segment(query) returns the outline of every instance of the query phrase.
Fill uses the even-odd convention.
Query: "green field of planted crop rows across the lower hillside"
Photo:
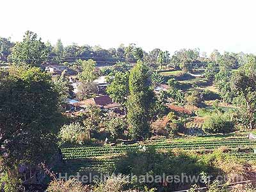
[[[228,154],[232,154],[241,159],[255,160],[256,154],[253,148],[256,147],[256,141],[249,140],[245,136],[232,138],[219,138],[212,140],[195,141],[170,141],[159,140],[150,141],[140,145],[117,145],[107,147],[67,147],[62,148],[63,160],[66,161],[66,172],[107,172],[115,169],[115,164],[126,152],[132,150],[145,150],[145,148],[154,148],[156,150],[172,150],[179,148],[182,150],[202,150],[211,151],[221,146],[229,148]],[[237,148],[249,148],[248,152],[236,152]]]

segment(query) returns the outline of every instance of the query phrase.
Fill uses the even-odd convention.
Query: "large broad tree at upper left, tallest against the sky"
[[[27,31],[23,41],[18,42],[12,48],[9,60],[15,65],[29,64],[31,66],[42,65],[47,61],[49,50],[36,33]]]

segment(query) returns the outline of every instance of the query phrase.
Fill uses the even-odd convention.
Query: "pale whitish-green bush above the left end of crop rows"
[[[63,125],[60,129],[59,138],[61,143],[83,144],[88,140],[88,134],[85,127],[79,123],[72,123],[69,125]]]

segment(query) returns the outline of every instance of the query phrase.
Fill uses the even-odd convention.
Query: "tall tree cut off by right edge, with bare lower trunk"
[[[250,61],[232,75],[231,88],[239,97],[241,107],[246,108],[250,129],[255,127],[256,121],[256,58]]]

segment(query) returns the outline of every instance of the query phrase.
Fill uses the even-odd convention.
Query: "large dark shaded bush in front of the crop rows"
[[[130,151],[126,156],[120,158],[115,165],[115,173],[136,175],[139,179],[143,178],[141,175],[152,175],[155,179],[153,182],[148,179],[142,183],[135,180],[134,183],[138,187],[147,185],[149,188],[157,188],[157,191],[170,191],[189,189],[195,183],[204,186],[201,182],[193,181],[193,176],[200,178],[199,175],[202,172],[212,175],[213,178],[216,175],[222,175],[220,169],[214,168],[210,164],[209,162],[205,163],[202,157],[200,159],[195,154],[190,155],[182,151],[160,153],[153,148],[147,148],[146,151]],[[161,179],[157,175],[160,175]],[[168,175],[171,175],[169,181],[166,180]],[[152,176],[150,177],[152,178]]]

